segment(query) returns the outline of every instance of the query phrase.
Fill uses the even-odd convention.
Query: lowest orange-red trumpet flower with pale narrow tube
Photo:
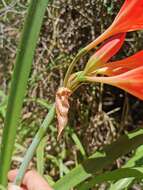
[[[113,77],[93,76],[86,80],[116,86],[143,100],[143,66]]]

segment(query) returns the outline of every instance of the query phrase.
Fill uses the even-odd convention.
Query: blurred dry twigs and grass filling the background
[[[17,131],[13,168],[22,161],[73,56],[112,23],[122,3],[123,0],[52,0],[47,7]],[[26,0],[0,2],[0,133],[27,7]],[[124,47],[113,59],[141,50],[142,39],[142,32],[129,33]],[[80,68],[85,60],[81,60]],[[63,138],[57,142],[55,124],[51,125],[31,162],[30,167],[37,167],[50,183],[95,150],[102,150],[104,145],[143,124],[143,103],[111,86],[82,86],[70,103],[70,121]],[[130,155],[119,158],[107,170],[120,168]],[[95,189],[107,187],[108,184],[102,183]],[[141,182],[135,182],[131,187],[142,188]]]

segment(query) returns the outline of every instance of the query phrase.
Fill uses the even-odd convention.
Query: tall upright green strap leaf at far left
[[[7,184],[7,172],[10,168],[16,128],[47,4],[48,0],[31,0],[17,50],[0,153],[0,184],[4,186]]]

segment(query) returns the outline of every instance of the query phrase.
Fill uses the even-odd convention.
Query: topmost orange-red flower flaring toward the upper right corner
[[[143,0],[125,0],[112,25],[84,49],[90,51],[117,33],[143,29]]]

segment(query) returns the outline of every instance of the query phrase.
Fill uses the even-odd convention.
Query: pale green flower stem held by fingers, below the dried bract
[[[16,179],[15,179],[15,182],[14,182],[15,185],[21,185],[22,179],[23,179],[24,174],[28,168],[28,165],[29,165],[29,163],[30,163],[41,139],[45,135],[47,128],[49,127],[49,125],[53,121],[54,116],[55,116],[55,104],[50,109],[48,115],[46,116],[45,120],[43,121],[41,127],[39,128],[37,134],[35,135],[30,147],[28,148],[28,150],[25,154],[25,157],[24,157],[23,162],[19,168],[19,172],[18,172]]]

